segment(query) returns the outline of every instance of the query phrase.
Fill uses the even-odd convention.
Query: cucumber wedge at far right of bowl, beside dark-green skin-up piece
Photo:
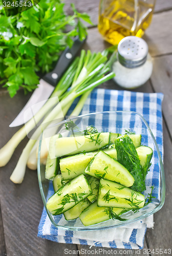
[[[140,164],[144,170],[144,177],[146,177],[147,171],[151,165],[150,161],[153,157],[153,150],[148,146],[139,146],[136,148],[136,151],[140,159]]]

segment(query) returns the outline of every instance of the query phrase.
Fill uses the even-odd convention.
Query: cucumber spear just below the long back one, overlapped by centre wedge
[[[104,152],[110,155],[113,158],[117,158],[117,153],[115,148],[106,149]],[[89,152],[89,153],[81,153],[75,156],[65,157],[60,159],[60,170],[62,174],[62,178],[64,180],[73,179],[80,174],[84,173],[85,168],[93,159],[93,157],[98,153]]]

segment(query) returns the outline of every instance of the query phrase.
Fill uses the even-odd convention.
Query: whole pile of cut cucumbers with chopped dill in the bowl
[[[151,201],[141,194],[151,165],[152,148],[141,145],[141,135],[101,132],[89,126],[84,135],[50,139],[46,179],[54,195],[47,201],[52,215],[79,218],[93,225],[138,211]],[[153,188],[152,188],[153,189]]]

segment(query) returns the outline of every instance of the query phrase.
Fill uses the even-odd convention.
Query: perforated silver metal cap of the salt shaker
[[[146,62],[147,54],[148,46],[142,38],[126,36],[119,42],[117,59],[126,68],[142,66]]]

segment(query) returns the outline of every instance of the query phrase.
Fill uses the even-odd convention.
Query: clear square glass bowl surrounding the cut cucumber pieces
[[[151,191],[150,186],[154,185],[152,202],[138,212],[128,211],[121,215],[126,221],[108,220],[91,226],[84,226],[78,219],[67,221],[63,215],[53,216],[47,210],[47,200],[54,194],[52,181],[45,178],[45,165],[40,164],[40,148],[42,138],[50,137],[55,133],[60,133],[62,137],[69,137],[73,134],[75,136],[83,134],[83,131],[87,126],[93,125],[97,128],[98,132],[113,132],[124,134],[125,130],[130,130],[136,134],[141,134],[143,145],[149,146],[153,149],[152,165],[146,176],[146,190],[144,191],[145,198]],[[47,214],[50,221],[55,227],[63,228],[66,230],[100,230],[112,227],[119,227],[129,223],[139,221],[149,215],[154,214],[160,210],[165,200],[165,177],[161,154],[154,138],[152,131],[150,130],[147,122],[144,118],[136,112],[127,111],[110,111],[91,113],[87,115],[81,115],[78,117],[70,117],[67,120],[55,120],[47,129],[42,132],[42,136],[39,142],[38,150],[38,182],[40,188],[40,194],[42,201],[47,210]]]

